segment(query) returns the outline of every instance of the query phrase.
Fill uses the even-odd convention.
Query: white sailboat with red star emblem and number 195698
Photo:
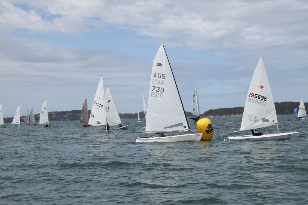
[[[257,128],[276,125],[277,133],[261,134],[255,133]],[[267,78],[262,57],[260,57],[249,86],[241,129],[239,131],[250,130],[254,134],[229,136],[224,141],[241,140],[263,140],[263,139],[290,139],[299,132],[279,133],[278,120],[272,90]],[[238,132],[238,131],[234,131]],[[257,135],[257,136],[255,136]]]

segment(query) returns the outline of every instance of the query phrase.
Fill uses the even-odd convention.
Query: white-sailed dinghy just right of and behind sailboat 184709
[[[109,126],[119,125],[119,128],[117,128],[117,130],[126,130],[128,125],[126,126],[123,125],[119,112],[115,107],[115,101],[113,100],[109,87],[107,87],[105,91],[105,103],[106,103],[106,117]]]

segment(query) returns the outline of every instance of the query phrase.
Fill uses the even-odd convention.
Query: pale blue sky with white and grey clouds
[[[103,75],[120,113],[142,111],[161,44],[186,111],[194,88],[202,113],[243,107],[260,56],[275,102],[307,102],[307,22],[305,0],[0,0],[0,104],[80,110]]]

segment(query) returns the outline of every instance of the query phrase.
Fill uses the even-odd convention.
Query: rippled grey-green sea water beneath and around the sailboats
[[[0,204],[308,204],[308,120],[294,118],[278,115],[294,139],[245,142],[223,141],[241,116],[209,117],[212,140],[180,143],[136,143],[149,135],[137,119],[110,134],[78,121],[6,123]]]

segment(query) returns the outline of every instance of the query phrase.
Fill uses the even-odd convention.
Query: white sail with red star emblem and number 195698
[[[262,57],[260,57],[248,90],[241,130],[277,124],[277,115]]]

